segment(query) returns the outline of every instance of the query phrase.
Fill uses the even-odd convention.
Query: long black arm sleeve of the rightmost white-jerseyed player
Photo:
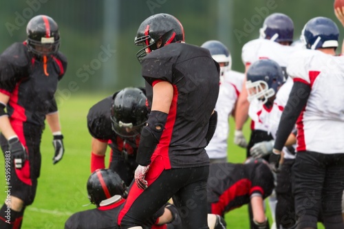
[[[282,150],[288,136],[292,133],[292,129],[294,124],[297,122],[297,118],[299,118],[301,111],[304,109],[308,101],[310,90],[310,85],[301,82],[294,82],[287,105],[284,107],[281,120],[279,121],[274,149],[279,151]]]

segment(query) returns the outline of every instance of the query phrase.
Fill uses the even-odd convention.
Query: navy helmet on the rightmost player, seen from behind
[[[321,47],[338,47],[339,30],[331,19],[314,17],[302,30],[301,40],[309,50]]]

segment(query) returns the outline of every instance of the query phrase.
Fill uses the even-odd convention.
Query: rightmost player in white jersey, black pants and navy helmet
[[[319,210],[325,228],[343,228],[344,57],[335,56],[338,36],[331,19],[311,19],[302,31],[308,50],[291,56],[287,67],[294,85],[279,122],[273,155],[278,164],[296,122],[292,177],[298,229],[316,228]]]

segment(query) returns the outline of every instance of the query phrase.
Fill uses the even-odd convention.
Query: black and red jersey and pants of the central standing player
[[[173,85],[173,100],[145,177],[148,188],[131,186],[118,223],[122,228],[140,225],[173,196],[175,206],[188,211],[180,214],[186,223],[183,228],[207,228],[204,197],[209,158],[204,148],[219,92],[219,66],[208,50],[171,43],[143,58],[142,76],[149,105],[152,87],[160,81]],[[188,201],[195,201],[197,208]]]

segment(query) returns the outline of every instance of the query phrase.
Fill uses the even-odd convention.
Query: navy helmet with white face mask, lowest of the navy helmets
[[[270,59],[255,61],[247,70],[248,101],[257,98],[264,103],[267,102],[268,98],[277,93],[283,81],[283,71],[278,63]]]

